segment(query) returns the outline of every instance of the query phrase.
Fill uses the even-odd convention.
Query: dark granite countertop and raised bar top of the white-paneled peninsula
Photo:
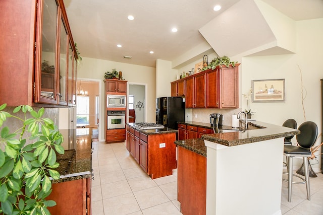
[[[179,122],[181,124],[195,125],[199,127],[212,128],[208,123],[202,122]],[[274,125],[265,122],[249,122],[250,130],[232,131],[225,133],[204,134],[200,139],[186,139],[175,141],[175,144],[206,157],[204,139],[228,147],[250,144],[252,142],[264,141],[299,134],[300,131],[288,127]],[[259,128],[260,127],[260,128]],[[223,126],[222,129],[232,129],[231,126]],[[204,149],[205,147],[205,149]]]

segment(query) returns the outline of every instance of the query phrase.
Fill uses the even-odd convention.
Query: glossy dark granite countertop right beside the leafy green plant
[[[64,132],[62,130],[62,132]],[[64,155],[57,154],[60,164],[57,170],[61,177],[52,183],[90,178],[92,172],[92,128],[77,128],[73,146],[68,146]],[[66,148],[66,147],[65,147]]]

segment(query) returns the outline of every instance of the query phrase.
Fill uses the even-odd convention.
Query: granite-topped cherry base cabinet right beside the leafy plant
[[[64,133],[65,130],[60,130]],[[92,128],[75,130],[75,141],[57,154],[61,177],[52,180],[52,192],[47,199],[57,205],[47,207],[51,214],[91,214]]]

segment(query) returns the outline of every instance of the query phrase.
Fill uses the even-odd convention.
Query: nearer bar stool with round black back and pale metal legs
[[[284,155],[287,157],[288,166],[287,174],[288,180],[283,179],[288,182],[288,201],[291,202],[292,199],[292,184],[306,183],[307,199],[310,200],[310,190],[309,190],[309,173],[308,173],[308,161],[307,158],[312,155],[311,147],[315,144],[317,137],[317,125],[314,122],[307,121],[303,122],[299,127],[300,134],[296,135],[296,140],[299,146],[289,146],[284,145]],[[305,168],[305,179],[293,174],[293,158],[303,157],[304,168]],[[302,182],[293,182],[293,175],[301,178]]]

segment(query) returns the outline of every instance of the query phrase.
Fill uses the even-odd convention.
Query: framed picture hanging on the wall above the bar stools
[[[252,102],[285,102],[285,79],[252,80]]]

